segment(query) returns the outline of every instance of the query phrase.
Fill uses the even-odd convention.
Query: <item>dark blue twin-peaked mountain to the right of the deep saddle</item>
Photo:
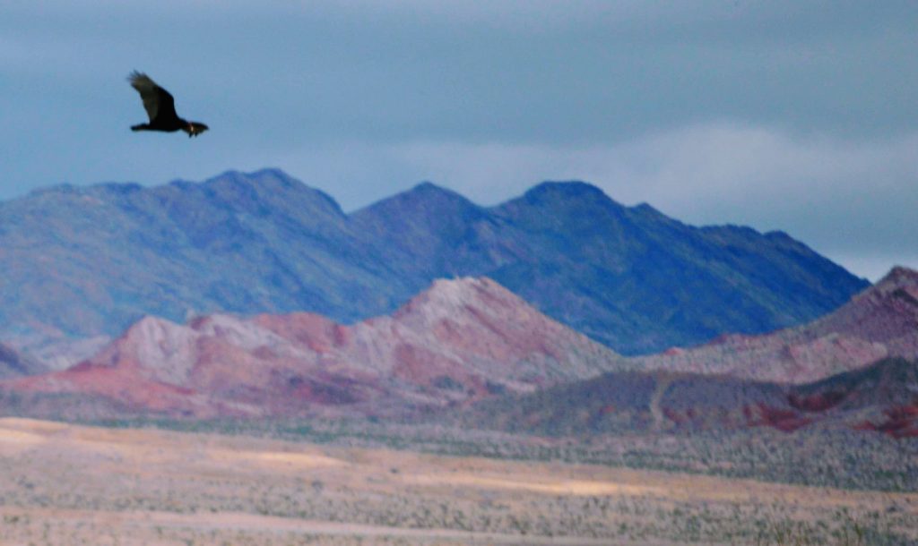
[[[422,184],[352,219],[405,278],[486,275],[625,355],[807,322],[868,285],[786,234],[689,226],[583,182],[487,209]]]

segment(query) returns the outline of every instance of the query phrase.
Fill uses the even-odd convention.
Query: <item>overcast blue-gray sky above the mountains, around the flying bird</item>
[[[587,180],[918,268],[918,3],[6,0],[0,199],[285,169],[353,210]],[[129,71],[211,131],[132,134]]]

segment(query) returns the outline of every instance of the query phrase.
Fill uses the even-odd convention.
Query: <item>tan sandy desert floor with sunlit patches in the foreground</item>
[[[3,545],[843,544],[863,529],[918,541],[918,494],[0,420]]]

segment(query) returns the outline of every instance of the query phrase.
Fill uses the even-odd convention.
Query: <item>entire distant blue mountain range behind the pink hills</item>
[[[454,276],[494,278],[624,354],[810,321],[867,286],[788,235],[681,224],[581,182],[495,207],[421,184],[345,214],[274,169],[0,203],[0,268],[0,340],[54,366],[145,315],[355,322]]]

